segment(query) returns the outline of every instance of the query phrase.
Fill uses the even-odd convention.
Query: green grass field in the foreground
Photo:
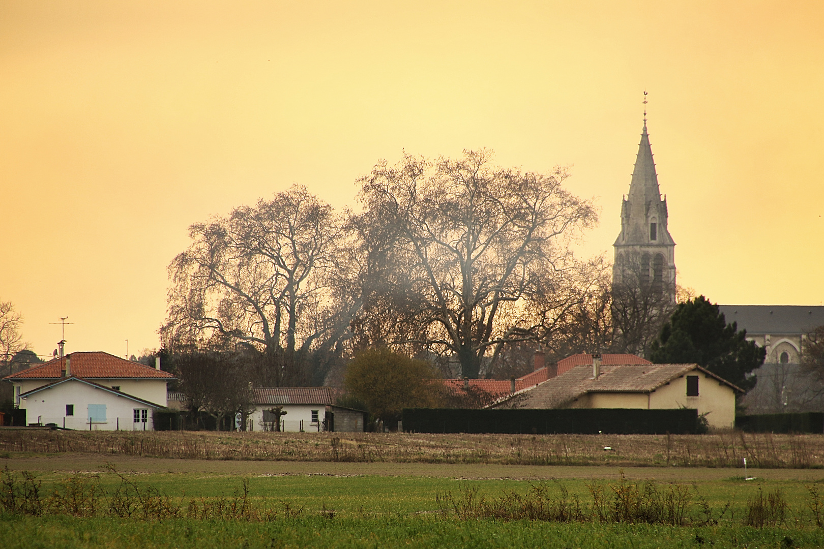
[[[35,472],[44,497],[68,477],[95,483],[111,498],[121,479],[99,466],[100,455],[12,456],[0,460],[13,471]],[[461,518],[438,503],[438,496],[477,491],[487,500],[506,493],[527,495],[543,482],[550,499],[577,496],[591,505],[592,486],[606,494],[620,488],[617,469],[531,468],[525,466],[443,466],[417,464],[207,462],[134,459],[116,468],[138,489],[169,496],[185,509],[188,500],[217,500],[241,493],[255,508],[276,509],[269,520],[119,518],[97,511],[91,517],[44,512],[40,516],[0,514],[2,547],[824,547],[810,509],[809,486],[821,486],[824,472],[780,469],[741,471],[713,468],[627,468],[625,486],[655,480],[663,494],[669,482],[690,493],[683,526],[660,523],[555,522],[528,519]],[[293,470],[290,470],[292,468]],[[763,475],[763,476],[762,476]],[[17,474],[19,478],[19,474]],[[776,527],[747,526],[749,504],[758,495],[780,490],[786,505]],[[714,520],[701,519],[699,496]],[[284,516],[283,505],[293,509]],[[101,508],[105,505],[101,505]],[[295,512],[295,509],[301,509]],[[723,511],[723,513],[722,513]],[[135,514],[137,516],[137,514]]]

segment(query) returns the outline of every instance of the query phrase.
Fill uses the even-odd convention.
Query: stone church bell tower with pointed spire
[[[675,241],[667,230],[667,198],[661,198],[646,112],[632,172],[630,193],[621,204],[620,235],[612,244],[612,283],[652,285],[675,300]]]

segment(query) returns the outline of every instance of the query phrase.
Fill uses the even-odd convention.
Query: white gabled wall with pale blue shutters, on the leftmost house
[[[74,405],[74,416],[66,416],[66,405]],[[134,423],[135,408],[147,410],[146,430],[152,430],[154,408],[130,398],[109,393],[80,381],[69,380],[38,393],[21,398],[20,407],[26,408],[26,422],[45,425],[55,423],[67,429],[89,430],[88,405],[105,404],[105,421],[95,421],[91,430],[143,430],[143,422]]]

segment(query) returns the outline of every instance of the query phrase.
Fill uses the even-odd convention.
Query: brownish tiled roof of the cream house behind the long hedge
[[[598,379],[592,379],[592,365],[586,365],[574,366],[564,375],[515,393],[493,407],[557,408],[586,393],[650,393],[692,370],[700,370],[743,393],[741,388],[695,364],[602,365]]]

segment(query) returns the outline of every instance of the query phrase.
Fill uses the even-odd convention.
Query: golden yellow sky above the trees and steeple
[[[0,3],[0,299],[34,350],[157,347],[194,221],[401,151],[572,165],[619,232],[648,128],[681,284],[824,300],[822,2]]]

